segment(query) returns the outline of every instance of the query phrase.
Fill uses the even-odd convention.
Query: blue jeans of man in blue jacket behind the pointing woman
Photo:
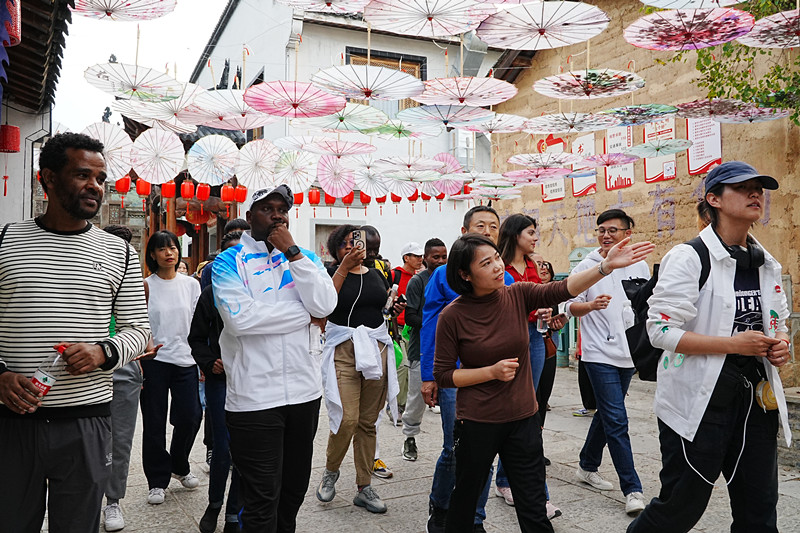
[[[431,486],[430,503],[437,509],[450,508],[450,495],[456,486],[456,456],[453,451],[453,429],[456,423],[456,389],[439,389],[439,409],[442,415],[442,453],[436,461],[436,470],[433,472],[433,485]],[[478,507],[475,510],[475,523],[482,524],[486,519],[486,500],[489,499],[489,487],[492,484],[492,467],[489,467],[489,476],[486,486],[483,487]]]

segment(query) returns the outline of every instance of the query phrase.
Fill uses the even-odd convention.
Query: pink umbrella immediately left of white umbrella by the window
[[[271,81],[253,85],[244,92],[244,102],[268,115],[289,118],[330,115],[341,111],[347,104],[341,96],[297,81]]]

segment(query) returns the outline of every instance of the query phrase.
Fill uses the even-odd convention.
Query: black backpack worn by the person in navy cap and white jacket
[[[700,280],[698,288],[702,289],[708,280],[711,272],[711,259],[708,254],[708,247],[700,237],[695,237],[686,242],[694,248],[700,256]],[[628,340],[628,348],[631,352],[633,364],[639,371],[639,379],[642,381],[655,381],[658,374],[658,362],[664,350],[655,348],[650,344],[650,336],[647,334],[647,313],[650,306],[647,300],[653,295],[653,288],[658,282],[658,267],[653,266],[653,276],[650,279],[634,278],[622,280],[622,288],[625,295],[631,301],[631,308],[634,314],[634,324],[625,330],[625,337]]]

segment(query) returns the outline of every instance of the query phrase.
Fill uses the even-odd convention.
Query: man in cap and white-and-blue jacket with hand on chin
[[[213,263],[214,301],[225,324],[225,415],[246,532],[295,530],[322,396],[309,325],[337,301],[322,262],[289,233],[293,203],[286,185],[256,191],[250,233]]]

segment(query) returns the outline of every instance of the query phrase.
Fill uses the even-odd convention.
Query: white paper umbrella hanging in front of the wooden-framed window
[[[320,70],[311,83],[345,98],[402,100],[416,96],[424,86],[402,70],[372,65],[341,65]]]

